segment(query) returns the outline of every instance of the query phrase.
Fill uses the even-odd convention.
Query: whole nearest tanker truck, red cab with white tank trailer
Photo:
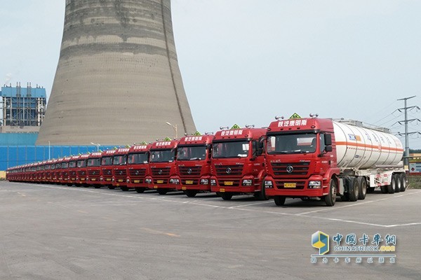
[[[278,206],[286,197],[333,206],[337,195],[354,202],[375,188],[405,191],[402,155],[401,141],[382,127],[314,116],[278,118],[267,130],[266,194]]]

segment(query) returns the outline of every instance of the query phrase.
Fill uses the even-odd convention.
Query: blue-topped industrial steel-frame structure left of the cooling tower
[[[46,90],[44,87],[16,87],[4,85],[1,87],[2,97],[2,127],[39,127],[44,120],[46,109]]]

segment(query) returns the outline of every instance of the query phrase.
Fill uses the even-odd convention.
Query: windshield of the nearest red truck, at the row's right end
[[[316,134],[278,134],[267,137],[267,153],[314,153],[316,151]]]

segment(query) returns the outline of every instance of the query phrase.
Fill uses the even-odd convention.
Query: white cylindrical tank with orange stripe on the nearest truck
[[[372,169],[398,165],[402,160],[401,141],[388,130],[363,127],[358,121],[333,121],[338,167]]]

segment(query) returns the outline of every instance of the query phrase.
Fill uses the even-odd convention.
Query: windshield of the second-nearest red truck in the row
[[[246,158],[249,141],[227,141],[212,144],[212,158]]]

